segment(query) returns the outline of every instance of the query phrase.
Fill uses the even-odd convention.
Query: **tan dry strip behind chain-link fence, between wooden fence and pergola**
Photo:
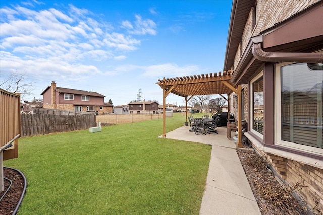
[[[162,118],[163,114],[107,114],[97,115],[96,123],[102,122],[102,125],[116,125]]]

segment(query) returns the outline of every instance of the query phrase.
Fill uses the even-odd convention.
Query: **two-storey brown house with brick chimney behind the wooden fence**
[[[97,114],[112,113],[113,105],[104,103],[103,95],[69,88],[56,87],[52,82],[42,93],[43,108],[71,111],[93,112]]]

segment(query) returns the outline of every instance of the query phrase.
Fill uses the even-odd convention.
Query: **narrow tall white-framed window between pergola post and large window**
[[[251,81],[251,132],[263,137],[263,71]]]

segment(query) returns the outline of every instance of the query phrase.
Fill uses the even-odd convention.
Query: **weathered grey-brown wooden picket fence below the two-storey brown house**
[[[95,126],[95,115],[22,114],[21,136],[83,130]]]

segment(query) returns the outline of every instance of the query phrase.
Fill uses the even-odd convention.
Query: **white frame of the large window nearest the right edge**
[[[290,62],[277,63],[275,65],[275,145],[284,146],[291,149],[298,149],[316,155],[323,155],[323,149],[317,147],[296,144],[281,139],[282,136],[282,105],[281,105],[281,67],[293,64]]]

